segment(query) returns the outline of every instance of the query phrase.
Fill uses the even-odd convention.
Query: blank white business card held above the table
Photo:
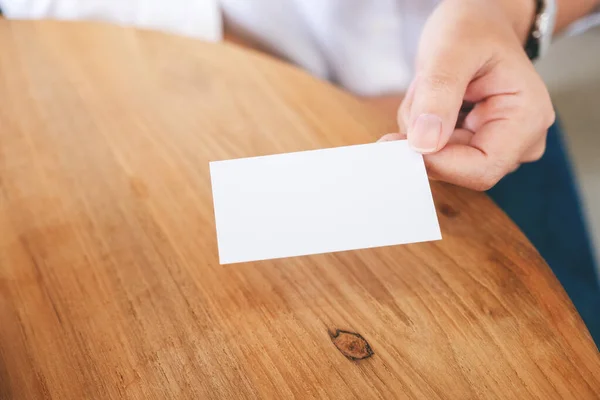
[[[406,141],[210,163],[221,264],[441,239]]]

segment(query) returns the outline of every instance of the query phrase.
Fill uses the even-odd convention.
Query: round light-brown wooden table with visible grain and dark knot
[[[484,195],[436,243],[221,266],[210,160],[393,126],[282,62],[0,21],[0,398],[598,399],[567,295]]]

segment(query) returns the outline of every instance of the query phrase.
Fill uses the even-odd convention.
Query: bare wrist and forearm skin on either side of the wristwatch
[[[529,35],[535,15],[535,0],[496,0],[513,22],[513,27],[519,38],[525,41]],[[556,18],[555,33],[578,19],[585,17],[595,7],[600,5],[600,0],[557,0],[558,15]]]

